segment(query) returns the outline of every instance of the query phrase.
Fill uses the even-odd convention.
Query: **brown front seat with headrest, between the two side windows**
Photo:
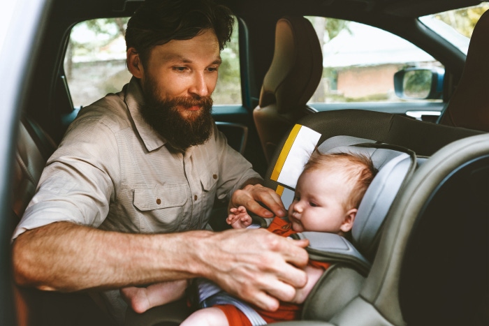
[[[322,71],[321,45],[311,22],[304,17],[278,20],[272,64],[253,112],[267,161],[295,121],[313,112],[306,103],[316,91]]]

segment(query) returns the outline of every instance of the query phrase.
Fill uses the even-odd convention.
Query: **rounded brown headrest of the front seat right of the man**
[[[275,29],[275,52],[261,88],[261,108],[276,103],[279,113],[309,101],[321,80],[323,54],[311,22],[283,17]]]

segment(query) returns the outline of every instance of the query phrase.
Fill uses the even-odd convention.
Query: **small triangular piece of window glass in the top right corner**
[[[439,36],[458,47],[460,51],[467,54],[472,31],[474,31],[479,17],[488,9],[489,3],[483,2],[479,6],[423,16],[419,20],[439,34]]]

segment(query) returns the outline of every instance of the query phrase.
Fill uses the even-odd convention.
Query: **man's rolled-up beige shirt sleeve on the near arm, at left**
[[[17,225],[13,239],[27,230],[58,221],[98,227],[108,214],[117,181],[117,142],[101,121],[66,133],[48,160],[36,195]]]

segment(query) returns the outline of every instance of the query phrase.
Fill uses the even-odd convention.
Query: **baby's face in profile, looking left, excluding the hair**
[[[350,187],[341,174],[323,170],[302,173],[289,207],[289,221],[293,230],[337,234],[348,232],[355,216],[353,214],[351,218],[351,210],[347,211],[343,205],[349,191]]]

